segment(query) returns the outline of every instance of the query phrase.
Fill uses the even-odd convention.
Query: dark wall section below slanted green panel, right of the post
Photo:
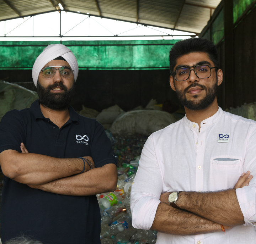
[[[233,107],[256,101],[256,8],[234,29],[234,98]]]

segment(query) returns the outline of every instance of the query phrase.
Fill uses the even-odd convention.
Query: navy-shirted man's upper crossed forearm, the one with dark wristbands
[[[58,159],[41,154],[5,150],[0,154],[0,165],[5,176],[23,184],[39,185],[80,173],[82,159]],[[85,171],[90,170],[85,165]]]

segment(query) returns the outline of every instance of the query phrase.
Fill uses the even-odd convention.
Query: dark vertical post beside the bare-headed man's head
[[[223,108],[234,106],[233,0],[224,0],[224,84]]]

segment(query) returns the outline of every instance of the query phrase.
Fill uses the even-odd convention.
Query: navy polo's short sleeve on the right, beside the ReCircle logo
[[[110,139],[103,126],[95,120],[95,131],[91,142],[91,157],[94,160],[95,168],[102,167],[108,163],[117,165],[117,155],[114,153]]]

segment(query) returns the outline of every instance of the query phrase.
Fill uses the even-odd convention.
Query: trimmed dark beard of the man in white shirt
[[[206,96],[202,98],[201,100],[192,101],[187,100],[186,93],[187,91],[192,87],[200,87],[203,90],[206,91]],[[218,81],[214,83],[212,87],[207,88],[204,85],[201,85],[199,83],[192,83],[189,85],[183,92],[181,90],[176,89],[176,94],[178,96],[178,99],[180,100],[181,104],[184,107],[187,107],[190,110],[202,110],[206,109],[210,104],[212,104],[218,90]],[[194,95],[193,98],[197,98],[198,95]]]

